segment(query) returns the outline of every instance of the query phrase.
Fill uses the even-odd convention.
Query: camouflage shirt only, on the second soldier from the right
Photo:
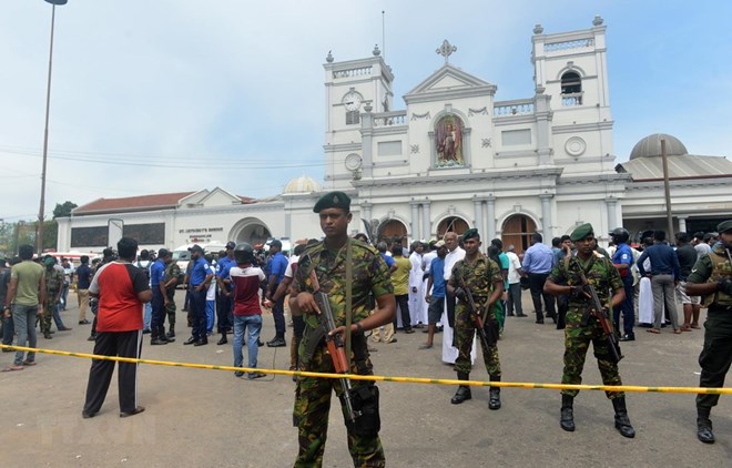
[[[555,284],[566,284],[568,286],[581,286],[582,278],[580,269],[584,272],[588,283],[590,283],[598,293],[600,303],[608,305],[610,303],[610,291],[623,288],[622,279],[618,268],[602,254],[594,253],[593,257],[583,263],[577,255],[569,257],[569,261],[562,260],[552,268],[549,279]],[[583,299],[587,303],[589,299]],[[578,305],[575,298],[570,298],[570,305]]]

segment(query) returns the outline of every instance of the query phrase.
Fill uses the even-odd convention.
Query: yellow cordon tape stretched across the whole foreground
[[[87,359],[115,360],[119,363],[150,364],[153,366],[185,367],[192,369],[210,369],[243,373],[265,373],[273,375],[318,377],[318,378],[349,378],[352,380],[396,381],[399,384],[428,384],[428,385],[466,385],[470,387],[504,387],[504,388],[542,388],[548,390],[601,390],[601,391],[634,391],[634,393],[659,393],[659,394],[708,394],[708,395],[732,395],[732,388],[728,387],[644,387],[638,385],[571,385],[571,384],[539,384],[528,381],[484,381],[484,380],[456,380],[451,378],[424,378],[424,377],[392,377],[383,375],[356,375],[356,374],[329,374],[311,373],[306,370],[262,369],[251,367],[216,366],[212,364],[177,363],[173,360],[138,359],[133,357],[100,356],[89,353],[71,353],[58,349],[29,348],[26,346],[0,345],[0,348],[51,354],[57,356],[81,357]]]

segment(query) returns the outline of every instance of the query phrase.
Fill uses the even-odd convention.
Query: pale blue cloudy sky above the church
[[[51,4],[0,1],[0,218],[38,217]],[[384,14],[382,12],[385,12]],[[324,176],[325,72],[375,44],[401,96],[450,63],[533,95],[533,26],[604,19],[617,162],[652,133],[732,149],[732,2],[69,0],[55,9],[45,216],[57,203],[220,186],[264,197]],[[383,27],[384,26],[384,27]]]

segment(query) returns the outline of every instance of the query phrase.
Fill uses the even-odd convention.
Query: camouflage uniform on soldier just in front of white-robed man
[[[458,261],[453,267],[450,284],[459,287],[465,281],[468,289],[472,293],[472,301],[481,312],[485,311],[490,294],[494,291],[494,283],[504,282],[500,267],[490,258],[479,256],[475,263],[468,264],[465,260]],[[491,307],[486,316],[486,328],[492,328],[498,333],[498,321],[496,319],[496,308]],[[455,342],[458,348],[458,357],[455,359],[455,370],[469,374],[470,349],[476,335],[476,325],[471,318],[470,306],[464,301],[458,301],[455,307]],[[490,336],[490,334],[488,333]],[[492,343],[490,343],[492,342]],[[486,370],[491,380],[500,379],[500,362],[498,360],[498,346],[495,339],[489,339],[489,347],[480,340],[482,347],[482,358],[486,363]]]

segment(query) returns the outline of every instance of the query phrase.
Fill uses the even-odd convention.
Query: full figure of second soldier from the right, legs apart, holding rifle
[[[620,307],[626,298],[620,273],[612,262],[596,251],[597,241],[592,225],[589,223],[579,225],[570,235],[570,240],[577,246],[576,255],[569,255],[555,265],[545,284],[545,291],[555,296],[569,294],[569,306],[567,309],[567,327],[565,328],[565,374],[562,384],[581,384],[582,367],[590,343],[594,347],[594,357],[604,385],[622,385],[618,364],[612,362],[611,350],[604,336],[604,332],[594,316],[587,317],[586,325],[582,317],[588,313],[591,305],[589,294],[586,292],[581,272],[587,282],[593,286],[600,303],[608,308]],[[610,292],[612,291],[612,297]],[[601,312],[608,316],[608,309]],[[575,430],[573,400],[579,390],[561,391],[561,418],[560,426],[568,431]],[[636,430],[628,418],[626,408],[626,394],[607,393],[616,410],[616,428],[623,437],[632,438]]]

